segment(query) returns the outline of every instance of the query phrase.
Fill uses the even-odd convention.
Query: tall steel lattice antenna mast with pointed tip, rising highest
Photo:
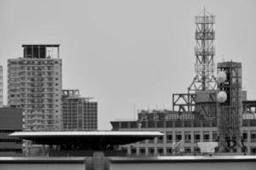
[[[195,16],[195,73],[196,76],[188,88],[188,91],[205,91],[216,88],[216,81],[213,75],[215,48],[213,30],[215,16],[204,8],[200,14]]]

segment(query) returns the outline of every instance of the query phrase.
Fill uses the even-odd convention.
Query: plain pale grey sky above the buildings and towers
[[[255,0],[0,0],[0,65],[21,44],[60,43],[62,88],[98,102],[98,128],[171,109],[195,77],[195,15],[216,16],[215,63],[242,62],[242,87],[256,99]]]

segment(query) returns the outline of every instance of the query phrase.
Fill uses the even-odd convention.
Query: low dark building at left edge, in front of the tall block
[[[0,156],[22,156],[22,140],[9,137],[22,131],[22,109],[0,108]]]

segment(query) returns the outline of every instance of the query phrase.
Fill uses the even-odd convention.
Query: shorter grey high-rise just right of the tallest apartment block
[[[64,130],[96,130],[97,102],[80,97],[79,90],[62,90]]]

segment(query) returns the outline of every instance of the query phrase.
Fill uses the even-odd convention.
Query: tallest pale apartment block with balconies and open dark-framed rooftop
[[[8,105],[24,110],[24,130],[61,130],[59,44],[24,44],[8,60]]]

